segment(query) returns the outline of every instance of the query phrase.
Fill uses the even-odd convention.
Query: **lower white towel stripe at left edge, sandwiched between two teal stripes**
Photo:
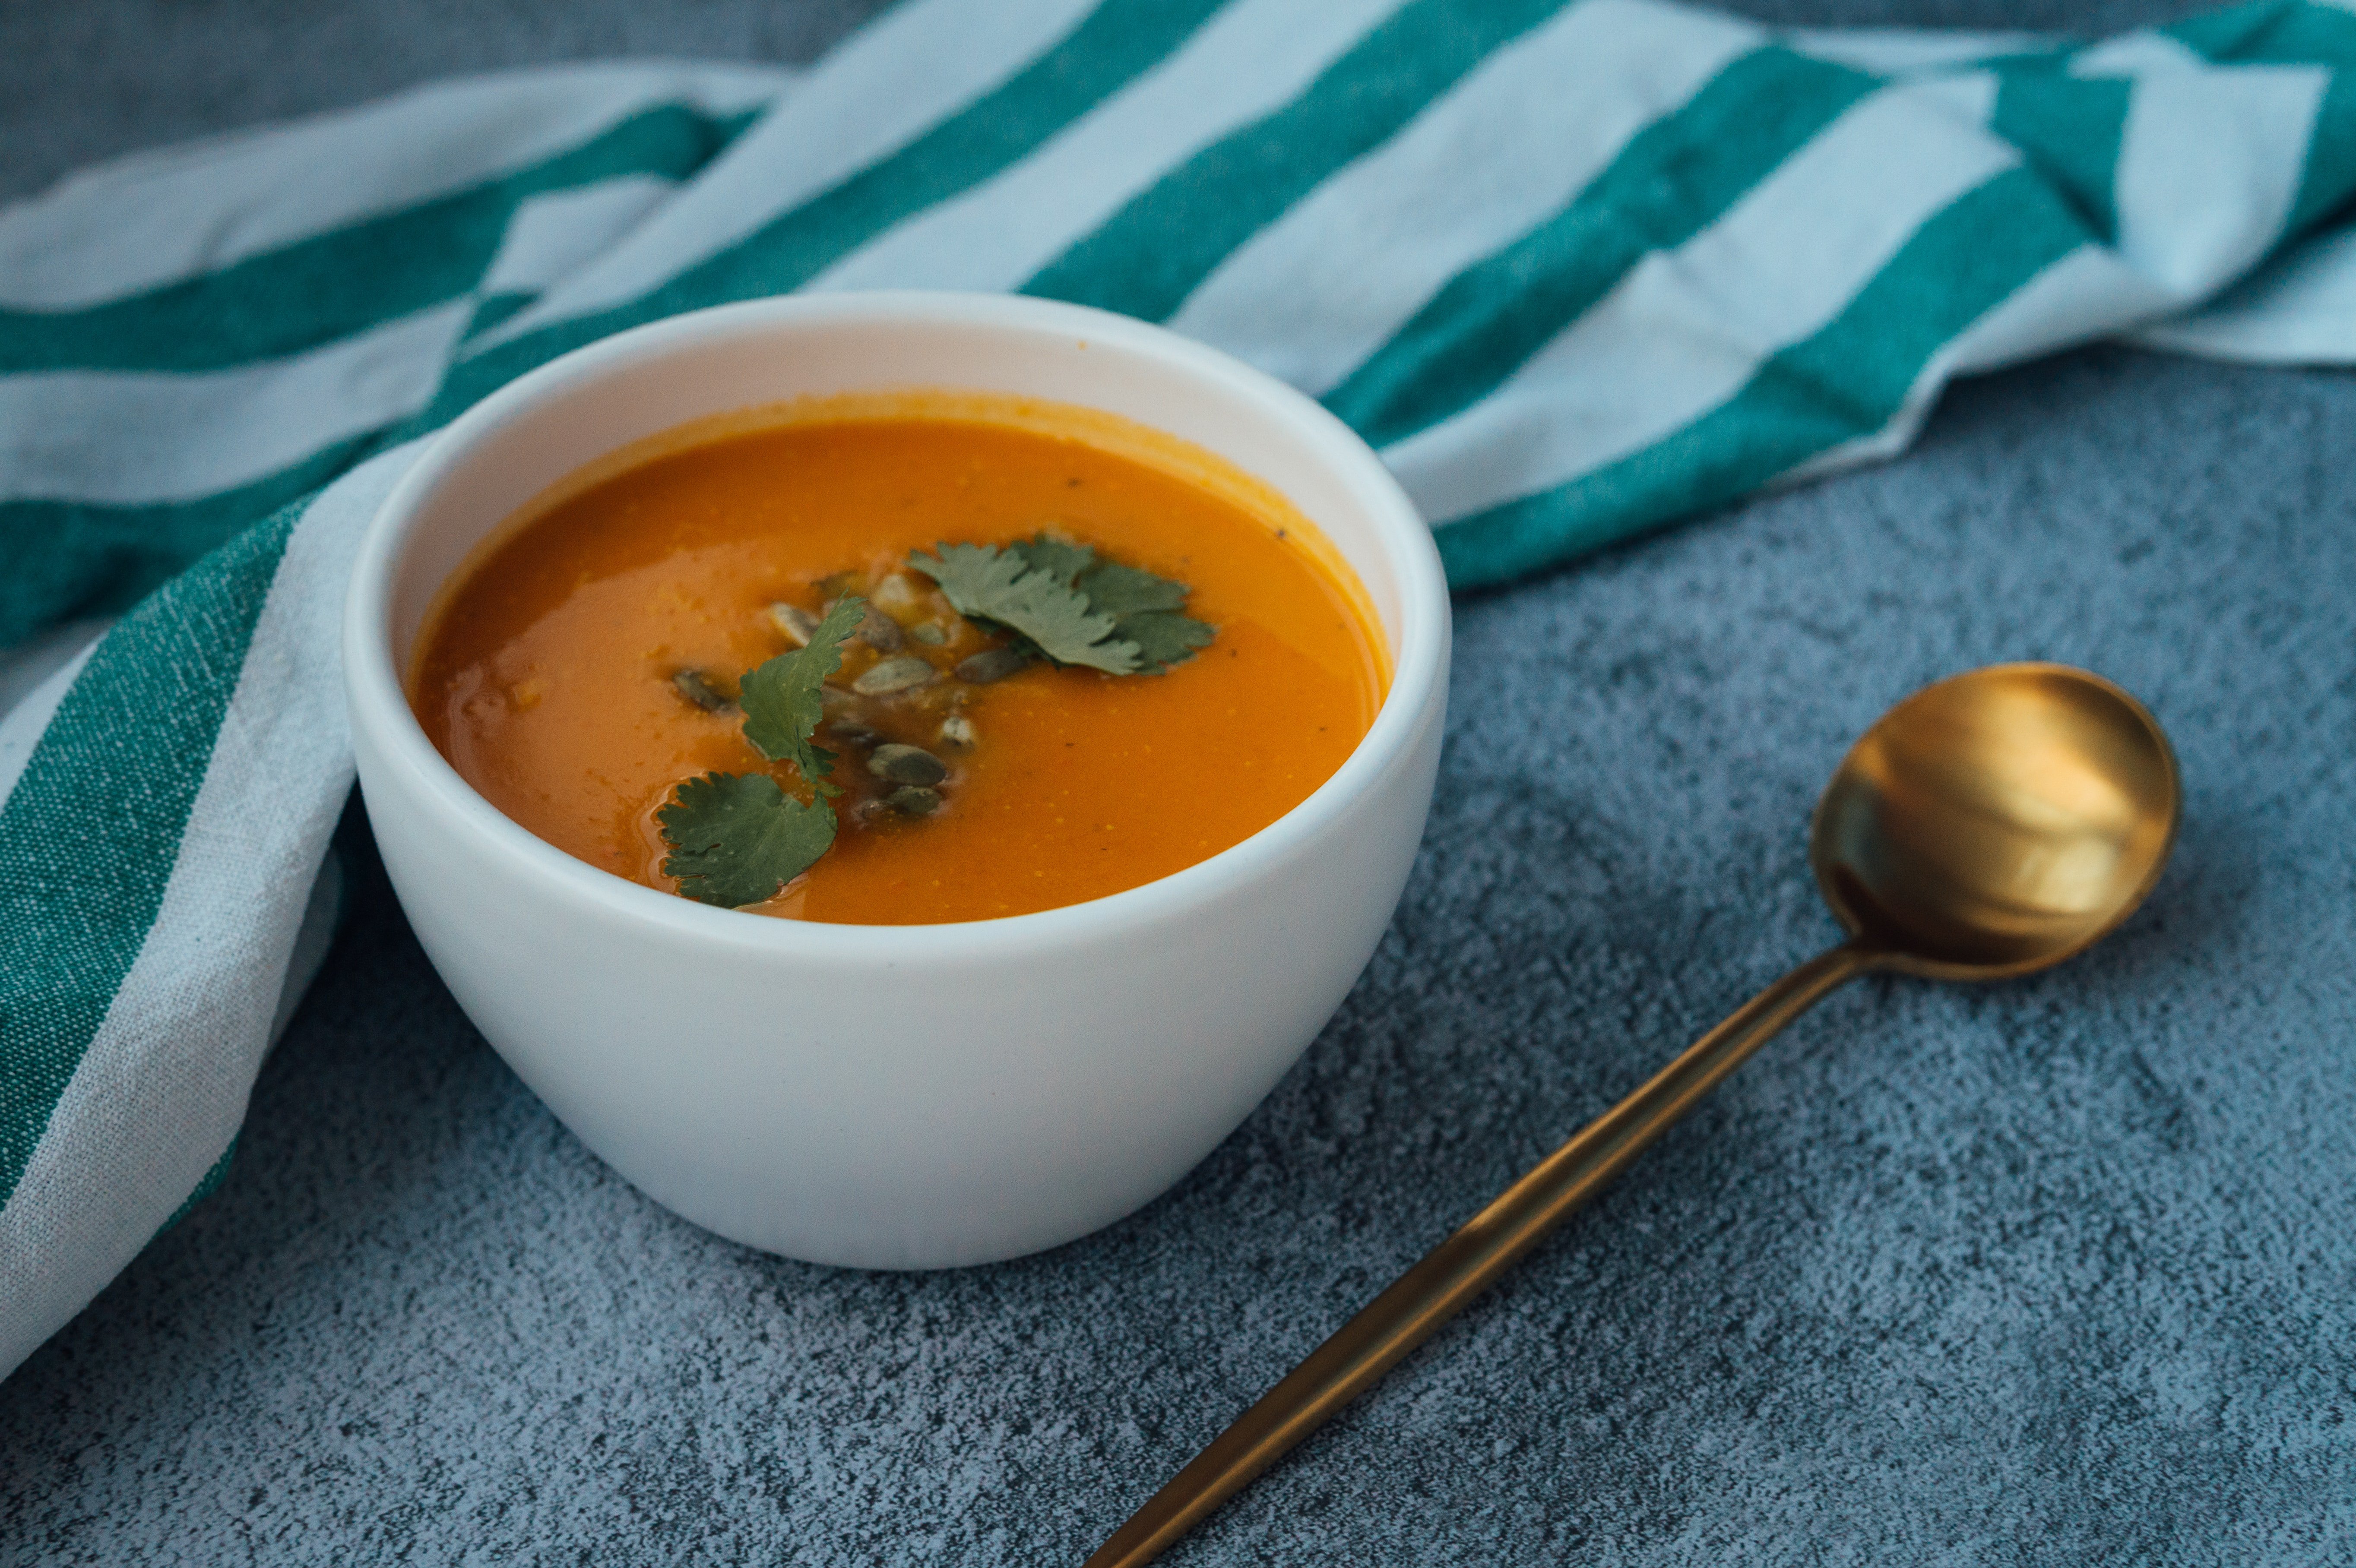
[[[137,506],[252,483],[434,398],[471,301],[203,374],[0,377],[0,497]]]

